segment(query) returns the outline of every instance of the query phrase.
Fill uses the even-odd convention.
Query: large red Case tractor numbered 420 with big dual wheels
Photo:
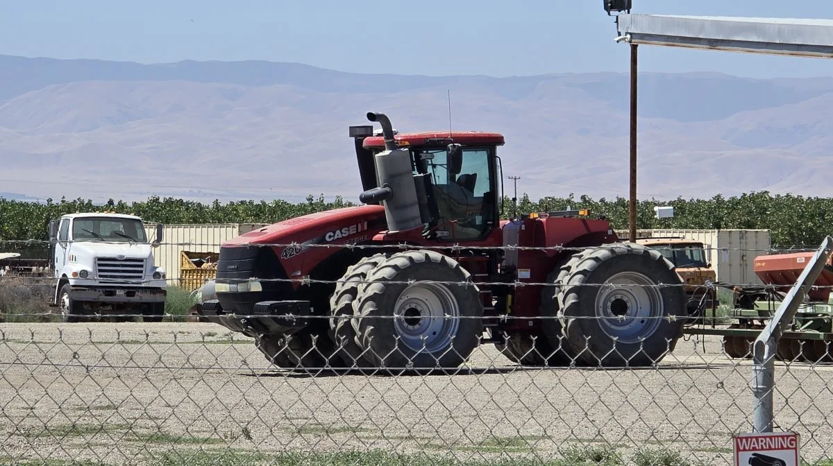
[[[367,118],[382,136],[350,128],[365,205],[227,241],[207,320],[287,368],[456,368],[481,343],[525,365],[644,366],[674,349],[686,294],[658,251],[586,211],[501,221],[500,134]]]

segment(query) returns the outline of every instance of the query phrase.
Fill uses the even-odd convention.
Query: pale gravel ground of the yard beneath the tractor
[[[659,369],[526,369],[484,345],[460,374],[368,377],[276,370],[229,335],[202,323],[0,325],[0,463],[217,449],[556,459],[609,446],[731,464],[731,435],[751,430],[751,363],[727,359],[716,337],[681,340]],[[807,460],[833,457],[833,368],[777,366],[778,430],[801,434]]]

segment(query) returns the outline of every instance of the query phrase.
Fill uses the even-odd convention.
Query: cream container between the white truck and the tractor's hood
[[[203,259],[216,257],[223,242],[263,226],[266,225],[251,223],[166,225],[163,228],[162,245],[153,249],[153,261],[157,266],[165,269],[168,286],[187,285],[187,288],[192,289],[195,288],[197,281],[213,278],[215,270],[196,272],[187,265],[182,265],[183,256],[199,260],[200,253],[206,253]],[[155,225],[148,224],[146,228],[148,238],[156,237]],[[183,269],[191,270],[186,272],[187,277],[182,276]],[[181,283],[183,278],[187,279],[187,283]]]

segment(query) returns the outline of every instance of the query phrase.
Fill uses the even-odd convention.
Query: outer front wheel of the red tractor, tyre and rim
[[[480,290],[464,285],[471,274],[456,260],[431,250],[400,252],[367,281],[353,301],[353,325],[375,366],[392,372],[457,368],[479,343]]]

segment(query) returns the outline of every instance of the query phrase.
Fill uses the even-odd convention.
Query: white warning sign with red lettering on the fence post
[[[798,434],[773,432],[735,437],[735,466],[798,466]]]

